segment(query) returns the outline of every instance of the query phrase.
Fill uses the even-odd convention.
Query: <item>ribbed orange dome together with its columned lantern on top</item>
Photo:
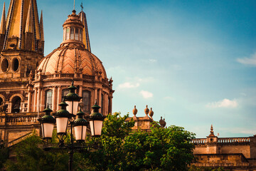
[[[42,75],[78,73],[107,78],[102,61],[90,53],[85,13],[75,10],[63,24],[63,42],[59,48],[41,60],[37,71]]]

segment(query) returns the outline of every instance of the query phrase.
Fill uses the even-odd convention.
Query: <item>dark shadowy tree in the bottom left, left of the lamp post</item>
[[[19,142],[15,147],[16,162],[7,160],[6,170],[9,171],[48,171],[68,170],[68,155],[61,152],[46,152],[42,149],[43,142],[37,135],[31,135]]]

